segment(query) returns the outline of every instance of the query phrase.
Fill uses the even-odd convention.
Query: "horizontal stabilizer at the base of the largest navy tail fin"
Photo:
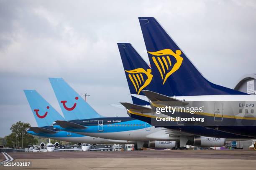
[[[175,99],[174,97],[161,95],[161,94],[156,93],[156,92],[151,92],[151,91],[148,91],[148,90],[142,90],[142,92],[153,103],[154,102],[164,102],[164,103],[169,103],[171,105],[187,105],[188,104],[188,102],[185,102],[183,100],[178,100],[178,99]]]

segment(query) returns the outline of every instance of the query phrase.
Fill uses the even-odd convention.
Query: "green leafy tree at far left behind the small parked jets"
[[[23,123],[21,121],[16,122],[10,128],[12,133],[6,136],[6,145],[8,147],[28,147],[28,145],[33,145],[34,137],[33,135],[27,133],[27,129],[30,128],[29,123]],[[35,144],[37,143],[37,138],[35,138]]]

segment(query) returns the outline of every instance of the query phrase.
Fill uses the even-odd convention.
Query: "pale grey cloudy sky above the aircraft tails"
[[[59,112],[48,77],[63,77],[105,116],[131,102],[117,42],[148,62],[138,17],[152,16],[208,80],[233,88],[255,73],[256,1],[0,0],[0,137],[21,120],[36,126],[23,89]],[[62,113],[61,113],[62,114]]]

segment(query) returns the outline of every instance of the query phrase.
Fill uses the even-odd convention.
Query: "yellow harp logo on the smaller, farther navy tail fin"
[[[134,70],[125,70],[128,72],[128,77],[130,78],[133,86],[139,94],[143,88],[145,88],[151,82],[153,75],[151,74],[151,69],[143,69],[143,68],[136,68]],[[146,75],[146,76],[145,76]]]

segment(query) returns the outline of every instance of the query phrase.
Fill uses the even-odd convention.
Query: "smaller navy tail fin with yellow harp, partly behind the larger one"
[[[131,94],[144,95],[141,90],[156,90],[151,68],[130,43],[118,43],[125,76]],[[133,104],[149,105],[149,102],[132,96]]]

